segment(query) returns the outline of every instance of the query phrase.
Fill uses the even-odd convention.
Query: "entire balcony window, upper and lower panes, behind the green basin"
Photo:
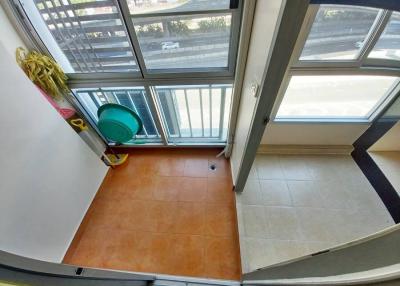
[[[94,128],[98,108],[117,103],[144,123],[128,145],[225,144],[243,0],[9,3]]]

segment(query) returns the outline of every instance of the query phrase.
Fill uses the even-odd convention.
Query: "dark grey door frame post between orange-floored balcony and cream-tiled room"
[[[272,45],[265,66],[258,100],[247,134],[245,150],[235,180],[235,191],[242,192],[255,160],[266,125],[270,121],[273,106],[294,52],[297,38],[309,7],[309,0],[285,1],[282,5]]]

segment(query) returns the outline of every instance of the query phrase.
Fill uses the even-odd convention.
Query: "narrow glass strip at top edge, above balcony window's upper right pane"
[[[131,14],[229,9],[229,0],[128,0]]]

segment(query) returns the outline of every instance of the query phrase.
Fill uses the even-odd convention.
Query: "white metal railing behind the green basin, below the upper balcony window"
[[[94,123],[98,121],[98,108],[105,103],[118,103],[135,111],[143,121],[143,129],[135,139],[144,143],[160,143],[162,138],[171,144],[226,142],[231,85],[160,86],[154,90],[154,101],[142,87],[74,92]],[[151,108],[152,103],[156,109]],[[161,128],[157,122],[161,122]]]

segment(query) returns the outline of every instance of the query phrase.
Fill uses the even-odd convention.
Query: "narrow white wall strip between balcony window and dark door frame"
[[[262,81],[281,4],[282,0],[257,1],[230,159],[234,182],[239,172],[257,102],[251,92],[251,85],[260,84]]]

